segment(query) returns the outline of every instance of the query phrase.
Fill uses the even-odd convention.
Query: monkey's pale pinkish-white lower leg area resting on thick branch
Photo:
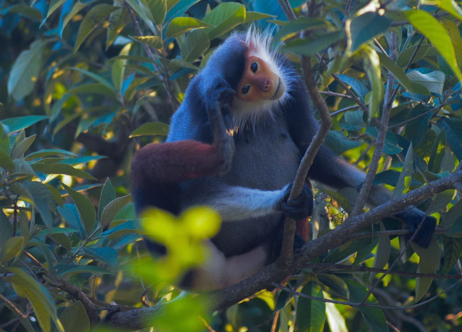
[[[234,285],[268,263],[269,243],[231,257],[225,257],[211,241],[207,241],[207,246],[210,249],[207,261],[188,273],[189,280],[183,280],[184,284],[196,290],[217,290]]]

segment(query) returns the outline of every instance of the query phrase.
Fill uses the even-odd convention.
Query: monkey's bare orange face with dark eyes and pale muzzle
[[[267,63],[256,56],[248,56],[241,81],[237,84],[236,98],[243,101],[277,100],[286,85]]]

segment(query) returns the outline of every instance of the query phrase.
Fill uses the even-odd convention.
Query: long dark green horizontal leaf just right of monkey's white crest
[[[285,53],[299,53],[304,55],[314,55],[323,51],[337,41],[345,37],[345,31],[328,32],[316,38],[303,38],[294,41],[288,41],[285,45],[280,47],[281,52]]]

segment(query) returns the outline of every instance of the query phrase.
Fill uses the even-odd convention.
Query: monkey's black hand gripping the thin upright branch
[[[295,200],[289,198],[291,190],[292,184],[287,186],[284,199],[280,205],[282,213],[296,220],[310,217],[313,213],[313,191],[311,190],[311,186],[304,184],[300,196]]]

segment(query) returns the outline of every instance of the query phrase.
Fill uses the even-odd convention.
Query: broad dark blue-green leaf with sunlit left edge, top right
[[[377,12],[365,12],[346,24],[348,44],[353,52],[362,44],[387,30],[391,21]]]

